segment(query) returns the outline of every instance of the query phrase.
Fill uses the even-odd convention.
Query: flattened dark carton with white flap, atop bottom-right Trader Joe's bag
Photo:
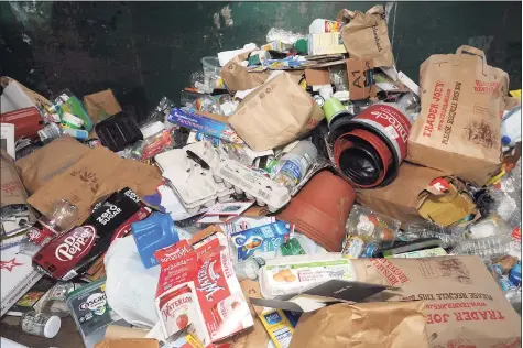
[[[306,313],[324,307],[327,303],[360,302],[385,289],[389,286],[334,279],[297,295],[277,296],[273,300],[250,297],[250,300],[255,306]]]

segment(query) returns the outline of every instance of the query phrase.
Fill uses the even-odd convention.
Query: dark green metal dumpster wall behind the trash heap
[[[264,43],[270,28],[306,33],[316,18],[371,2],[0,2],[0,73],[44,95],[112,88],[145,110],[175,102],[199,59]],[[521,88],[521,2],[386,3],[397,68],[417,80],[420,64],[459,45]],[[230,14],[230,15],[229,15]]]

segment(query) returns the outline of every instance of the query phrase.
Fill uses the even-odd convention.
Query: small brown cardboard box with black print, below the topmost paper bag
[[[372,58],[349,58],[346,62],[350,100],[375,97],[374,61]]]

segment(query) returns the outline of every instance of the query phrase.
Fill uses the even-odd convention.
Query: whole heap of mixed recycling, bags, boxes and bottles
[[[521,89],[482,51],[418,86],[375,6],[201,63],[141,123],[2,78],[1,315],[86,347],[521,345]]]

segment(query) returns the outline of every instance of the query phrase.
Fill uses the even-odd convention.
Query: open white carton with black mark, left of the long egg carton
[[[233,188],[213,178],[210,168],[218,165],[220,156],[209,142],[166,151],[154,159],[163,172],[162,176],[190,214],[211,207],[217,202],[228,202],[235,193]]]

